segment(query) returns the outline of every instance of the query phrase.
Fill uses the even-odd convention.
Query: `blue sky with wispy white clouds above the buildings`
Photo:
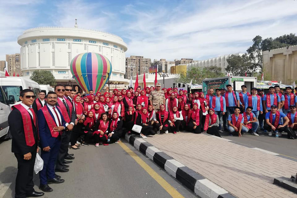
[[[40,26],[116,34],[131,55],[173,61],[245,53],[252,39],[297,33],[295,0],[1,0],[0,60],[20,52],[17,38]]]

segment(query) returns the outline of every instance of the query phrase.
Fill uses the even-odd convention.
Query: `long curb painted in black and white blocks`
[[[206,179],[199,173],[189,169],[166,153],[136,135],[125,135],[125,139],[137,150],[153,160],[159,167],[165,169],[179,182],[187,186],[201,198],[236,198],[228,191]]]

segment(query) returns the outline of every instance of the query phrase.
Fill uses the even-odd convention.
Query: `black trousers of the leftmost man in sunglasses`
[[[33,171],[36,149],[31,153],[32,157],[30,160],[25,160],[24,155],[15,153],[15,157],[18,160],[18,174],[15,180],[15,198],[26,197],[26,194],[30,194],[34,191]]]

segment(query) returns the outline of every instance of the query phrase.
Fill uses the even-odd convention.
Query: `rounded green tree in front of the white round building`
[[[34,80],[40,85],[50,85],[54,86],[56,84],[56,79],[50,71],[46,70],[36,70],[30,77],[31,80]]]

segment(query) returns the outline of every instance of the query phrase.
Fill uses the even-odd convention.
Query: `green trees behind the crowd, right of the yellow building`
[[[206,78],[216,78],[225,76],[222,73],[221,68],[217,66],[209,66],[209,67],[191,67],[187,70],[186,75],[180,75],[179,78],[176,78],[176,83],[190,83],[193,79],[192,83],[201,84],[203,79]]]

